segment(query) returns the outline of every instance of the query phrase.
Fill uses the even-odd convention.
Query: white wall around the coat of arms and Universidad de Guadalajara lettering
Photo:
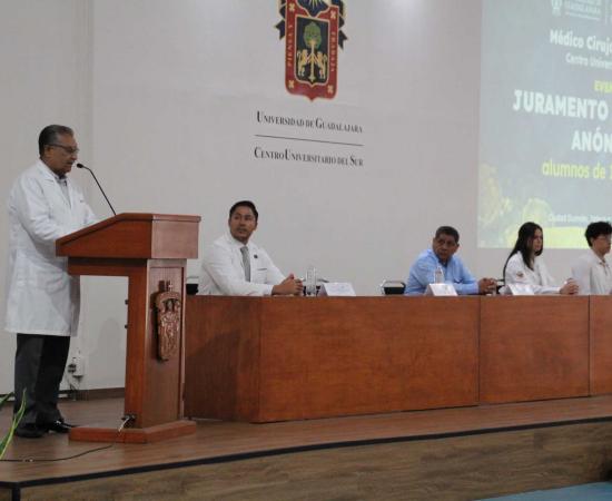
[[[340,90],[309,102],[284,89],[276,3],[96,3],[95,165],[121,210],[201,214],[203,242],[251,198],[282,269],[377,293],[434,226],[475,227],[480,4],[349,2]],[[363,124],[366,167],[255,161],[258,109]]]

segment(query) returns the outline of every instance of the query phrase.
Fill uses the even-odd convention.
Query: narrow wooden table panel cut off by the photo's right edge
[[[612,297],[591,296],[591,394],[612,393]]]

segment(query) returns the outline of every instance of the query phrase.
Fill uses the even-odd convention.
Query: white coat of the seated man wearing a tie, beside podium
[[[250,282],[247,282],[240,253],[244,245],[228,232],[205,248],[198,294],[272,295],[273,286],[283,282],[285,276],[274,265],[266,250],[249,242],[246,245],[250,261]]]

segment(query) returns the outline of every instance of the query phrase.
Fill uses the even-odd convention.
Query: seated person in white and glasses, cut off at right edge
[[[600,220],[586,226],[584,237],[590,249],[572,266],[572,278],[578,283],[579,294],[612,294],[612,272],[605,261],[610,252],[612,226]]]

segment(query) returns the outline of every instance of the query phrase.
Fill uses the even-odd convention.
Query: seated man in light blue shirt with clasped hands
[[[443,282],[452,284],[457,294],[486,294],[495,291],[494,278],[476,281],[463,262],[455,256],[458,232],[452,226],[441,226],[432,240],[432,248],[424,250],[411,267],[406,289],[407,296],[425,293],[427,285],[436,282],[436,271],[443,273]]]

